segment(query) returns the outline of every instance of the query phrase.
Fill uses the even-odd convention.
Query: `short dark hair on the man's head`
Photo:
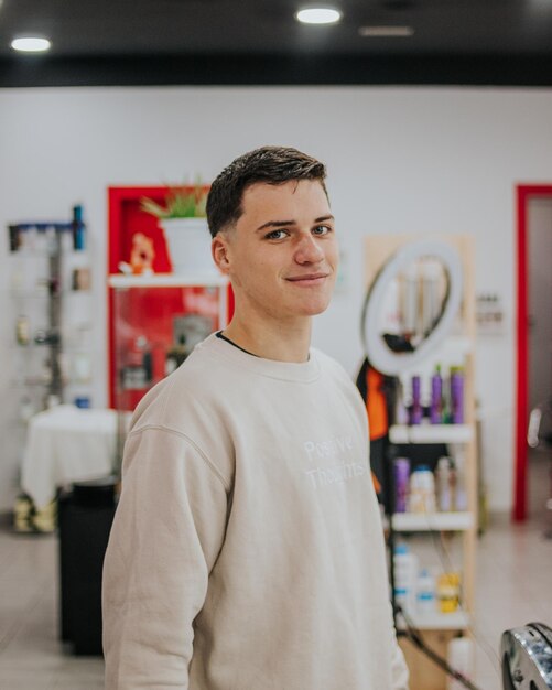
[[[290,147],[262,147],[243,153],[216,177],[207,196],[207,223],[213,237],[236,223],[243,209],[247,187],[257,182],[283,184],[291,180],[318,180],[327,196],[326,166]]]

